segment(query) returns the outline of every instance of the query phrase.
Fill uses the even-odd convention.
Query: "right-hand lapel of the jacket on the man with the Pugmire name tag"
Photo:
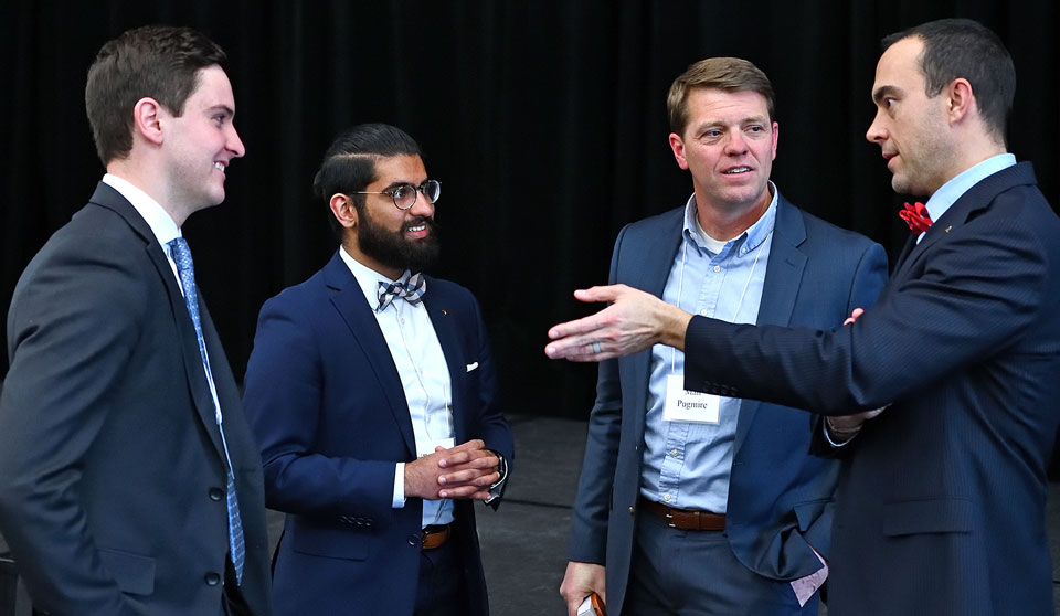
[[[762,300],[759,302],[757,325],[787,326],[791,322],[798,286],[806,269],[806,255],[798,249],[799,244],[805,240],[806,225],[803,223],[802,215],[794,205],[778,195],[770,259],[766,263],[765,282],[762,286]],[[756,400],[741,401],[732,446],[733,456],[743,445],[751,423],[761,406],[762,403]]]

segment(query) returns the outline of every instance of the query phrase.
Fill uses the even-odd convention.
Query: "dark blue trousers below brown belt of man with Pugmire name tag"
[[[682,531],[661,519],[637,519],[629,582],[622,613],[635,616],[816,616],[788,582],[743,566],[724,531]]]

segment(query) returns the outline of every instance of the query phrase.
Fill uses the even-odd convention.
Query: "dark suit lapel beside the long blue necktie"
[[[184,373],[188,376],[188,389],[191,392],[192,401],[195,405],[195,414],[202,422],[210,440],[213,443],[218,455],[224,459],[224,448],[221,444],[221,433],[218,428],[216,415],[213,407],[213,396],[210,394],[210,384],[206,382],[206,372],[202,365],[202,355],[199,353],[199,339],[195,336],[195,326],[191,322],[191,316],[188,314],[188,306],[184,304],[184,296],[180,293],[177,285],[177,276],[173,274],[166,253],[158,243],[155,232],[151,231],[147,221],[140,216],[139,212],[132,208],[121,193],[114,188],[99,182],[96,192],[93,193],[93,203],[112,210],[121,216],[132,231],[144,241],[144,249],[147,257],[155,265],[156,272],[166,287],[166,295],[169,299],[169,308],[173,315],[173,321],[177,325],[177,334],[180,341],[180,354],[184,364]],[[202,306],[200,301],[200,307]],[[209,316],[206,316],[209,319]],[[212,326],[211,326],[212,327]],[[220,341],[215,342],[220,346]],[[210,343],[208,342],[208,349]]]

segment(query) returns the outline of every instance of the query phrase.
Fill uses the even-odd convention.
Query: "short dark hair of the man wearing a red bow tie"
[[[886,36],[883,51],[913,36],[924,44],[920,72],[928,96],[936,96],[964,77],[972,84],[983,121],[994,138],[1005,144],[1005,124],[1016,95],[1016,67],[998,35],[971,19],[940,19]]]

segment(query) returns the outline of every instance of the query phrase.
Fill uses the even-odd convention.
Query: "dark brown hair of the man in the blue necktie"
[[[107,41],[88,68],[85,109],[99,160],[132,149],[132,107],[149,96],[180,116],[199,85],[199,71],[221,65],[224,51],[190,28],[145,25]]]

